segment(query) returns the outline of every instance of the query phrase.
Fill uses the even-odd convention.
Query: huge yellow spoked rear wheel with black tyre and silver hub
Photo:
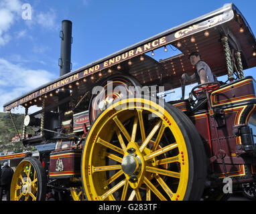
[[[115,102],[99,115],[81,169],[88,200],[198,200],[206,156],[184,113],[144,96]]]

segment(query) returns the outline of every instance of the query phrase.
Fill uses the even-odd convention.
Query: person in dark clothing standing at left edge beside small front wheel
[[[5,162],[3,164],[3,169],[1,172],[1,179],[0,179],[0,201],[2,201],[3,197],[3,190],[5,190],[6,199],[10,201],[10,189],[11,189],[11,179],[13,177],[13,169],[8,166],[8,163]]]

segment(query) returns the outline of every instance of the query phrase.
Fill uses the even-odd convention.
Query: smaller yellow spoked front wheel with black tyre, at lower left
[[[46,173],[40,160],[24,158],[11,180],[11,201],[44,201],[46,199]]]

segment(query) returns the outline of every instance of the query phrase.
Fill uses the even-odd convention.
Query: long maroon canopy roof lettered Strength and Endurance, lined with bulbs
[[[243,29],[243,32],[240,29]],[[188,55],[192,51],[200,52],[202,60],[207,62],[216,76],[225,75],[227,66],[220,42],[223,35],[228,37],[231,50],[241,52],[243,69],[256,66],[255,36],[239,9],[231,3],[65,74],[7,102],[4,110],[11,110],[15,106],[25,104],[40,106],[39,102],[34,103],[34,100],[50,94],[48,98],[54,101],[54,96],[51,94],[57,89],[68,88],[70,84],[78,85],[79,83],[82,83],[79,87],[90,88],[95,86],[97,81],[113,73],[130,74],[137,78],[141,85],[162,84],[166,86],[166,90],[177,88],[180,86],[179,80],[184,72],[190,75],[194,73],[194,68],[188,60]],[[166,45],[177,47],[182,54],[159,60],[159,62],[145,55]],[[129,60],[131,64],[127,63]]]

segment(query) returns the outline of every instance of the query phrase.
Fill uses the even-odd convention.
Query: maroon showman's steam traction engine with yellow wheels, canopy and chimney
[[[65,27],[67,26],[67,27]],[[223,179],[255,183],[256,41],[233,4],[188,21],[70,72],[71,23],[62,22],[60,78],[5,104],[25,107],[25,146],[12,200],[221,199]],[[154,60],[169,45],[182,54]],[[184,99],[180,77],[193,74],[188,55],[200,51],[216,77],[192,89],[207,108]],[[97,87],[96,87],[97,86]],[[182,96],[157,98],[182,86]],[[31,106],[42,109],[28,115]],[[30,127],[34,134],[27,137]],[[47,197],[46,197],[47,194]]]

